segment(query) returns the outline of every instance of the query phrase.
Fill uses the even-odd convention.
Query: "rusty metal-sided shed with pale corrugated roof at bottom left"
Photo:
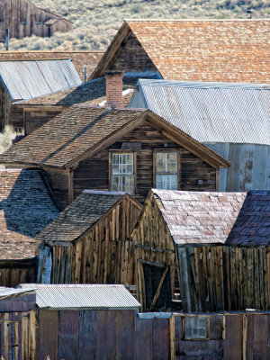
[[[139,302],[123,285],[21,284],[36,289],[36,359],[131,359]],[[123,357],[121,357],[123,356]]]

